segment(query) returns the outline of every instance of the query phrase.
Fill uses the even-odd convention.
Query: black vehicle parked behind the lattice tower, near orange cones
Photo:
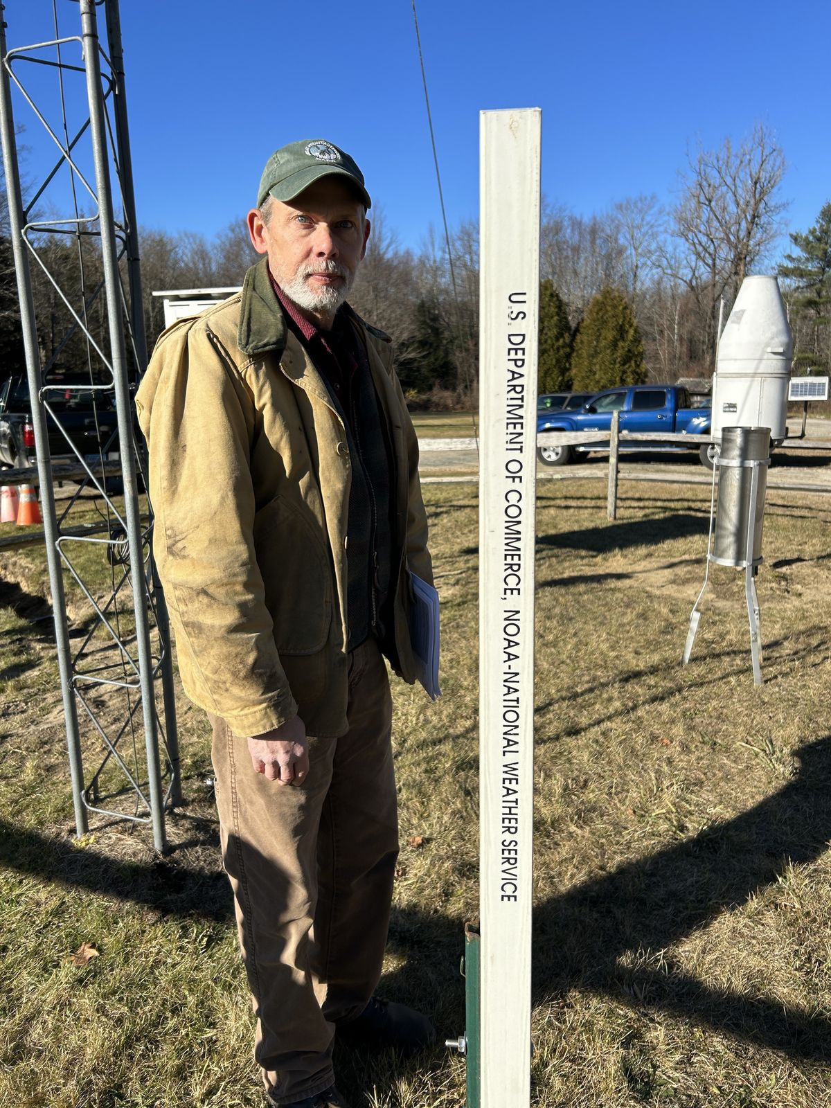
[[[94,388],[89,378],[53,372],[47,382],[49,450],[52,458],[98,461],[100,453],[117,450],[112,392]],[[54,414],[52,414],[54,413]],[[60,424],[60,425],[59,425]],[[73,451],[74,448],[74,451]],[[29,384],[22,375],[0,384],[0,464],[24,469],[37,463]]]

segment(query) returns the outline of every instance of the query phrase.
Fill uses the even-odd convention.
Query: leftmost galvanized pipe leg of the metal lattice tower
[[[0,6],[0,11],[4,10]],[[63,593],[63,576],[61,560],[58,554],[58,522],[55,514],[54,489],[52,485],[52,462],[49,451],[49,431],[45,410],[41,400],[41,368],[38,349],[38,327],[34,317],[34,300],[32,297],[31,275],[29,270],[28,252],[23,245],[23,199],[18,168],[17,142],[14,140],[14,120],[11,105],[11,84],[7,63],[6,23],[0,18],[0,129],[2,130],[3,165],[6,168],[6,187],[9,202],[9,223],[11,246],[14,256],[14,273],[20,296],[20,321],[23,332],[23,349],[25,368],[29,379],[29,394],[32,400],[32,424],[34,427],[34,443],[38,455],[38,478],[40,482],[41,512],[43,515],[43,532],[49,565],[49,585],[52,591],[52,612],[54,617],[55,645],[58,650],[58,669],[61,677],[61,697],[63,715],[66,724],[66,747],[69,750],[70,777],[72,780],[72,802],[75,810],[75,831],[78,835],[85,834],[89,829],[86,807],[83,797],[83,761],[81,757],[81,736],[78,726],[78,710],[72,691],[72,655],[70,650],[69,626],[66,624],[66,603]]]

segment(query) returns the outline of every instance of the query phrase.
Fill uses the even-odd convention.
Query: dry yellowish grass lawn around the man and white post
[[[538,489],[533,1104],[831,1105],[831,504],[768,490],[757,688],[736,571],[711,573],[679,660],[708,488],[625,485],[611,524],[597,482]],[[443,1039],[478,910],[478,513],[472,483],[424,494],[444,696],[394,686],[381,992]],[[0,1106],[260,1106],[208,726],[182,698],[168,855],[104,819],[76,842],[44,597],[42,552],[0,553]],[[443,1048],[336,1065],[353,1108],[464,1104]]]

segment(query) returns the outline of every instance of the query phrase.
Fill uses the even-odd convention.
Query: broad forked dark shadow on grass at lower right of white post
[[[831,736],[801,747],[798,770],[772,797],[650,858],[593,876],[541,904],[534,917],[535,994],[603,993],[737,1038],[822,1060],[831,1022],[758,994],[714,988],[663,951],[809,864],[831,839]],[[636,955],[643,967],[622,966]],[[797,971],[794,970],[794,973]]]

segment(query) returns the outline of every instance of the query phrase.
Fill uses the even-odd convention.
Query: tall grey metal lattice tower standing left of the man
[[[3,480],[40,484],[78,834],[99,812],[152,823],[162,850],[165,804],[181,799],[181,786],[167,613],[133,408],[147,350],[119,3],[64,0],[59,25],[58,0],[40,2],[49,41],[8,49],[0,27],[0,126],[38,454],[37,472]],[[21,123],[30,146],[55,154],[25,199]],[[68,431],[81,398],[93,411],[90,451]],[[57,496],[59,474],[78,482],[69,499]]]

